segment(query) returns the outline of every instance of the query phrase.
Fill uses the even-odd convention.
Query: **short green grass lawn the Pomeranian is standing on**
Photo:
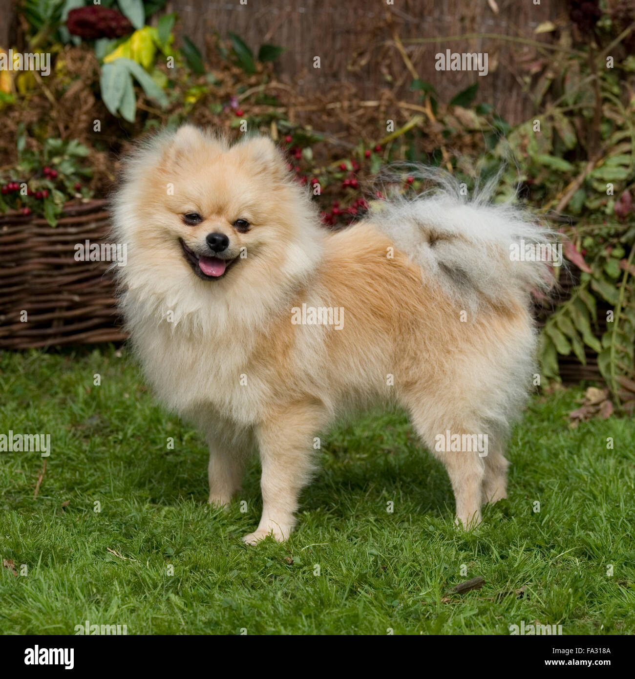
[[[228,513],[208,507],[204,444],[125,351],[0,354],[0,387],[0,433],[52,441],[36,498],[43,458],[0,453],[0,555],[18,570],[0,568],[2,634],[73,634],[86,620],[128,634],[635,632],[635,424],[571,430],[579,390],[532,399],[509,447],[509,499],[474,532],[454,527],[448,477],[405,417],[376,413],[329,435],[289,542],[245,547],[257,460]],[[482,589],[446,598],[475,576]]]

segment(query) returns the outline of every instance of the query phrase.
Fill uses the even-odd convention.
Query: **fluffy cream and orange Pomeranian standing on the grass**
[[[230,502],[258,452],[262,517],[245,542],[289,536],[319,433],[378,402],[403,407],[446,466],[459,526],[505,498],[505,439],[534,372],[530,290],[548,276],[510,252],[549,234],[444,181],[330,232],[265,137],[183,126],[128,158],[113,223],[132,345],[206,435],[209,502]]]

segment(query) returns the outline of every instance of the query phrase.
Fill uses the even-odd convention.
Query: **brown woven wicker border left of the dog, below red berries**
[[[75,244],[107,239],[105,206],[105,200],[68,204],[55,228],[39,217],[0,216],[1,349],[126,338],[110,263],[75,260]]]

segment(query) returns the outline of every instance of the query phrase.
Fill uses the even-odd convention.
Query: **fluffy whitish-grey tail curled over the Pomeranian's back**
[[[562,263],[554,232],[509,202],[494,204],[498,177],[468,198],[448,173],[422,168],[418,176],[438,188],[412,200],[382,202],[373,221],[395,246],[471,309],[526,303],[532,289],[551,287]]]

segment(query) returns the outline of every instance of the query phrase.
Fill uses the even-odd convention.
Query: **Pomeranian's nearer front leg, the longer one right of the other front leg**
[[[242,538],[249,545],[268,535],[282,542],[291,534],[297,498],[311,477],[314,436],[325,415],[323,405],[304,401],[270,411],[257,428],[262,517],[255,532]]]

